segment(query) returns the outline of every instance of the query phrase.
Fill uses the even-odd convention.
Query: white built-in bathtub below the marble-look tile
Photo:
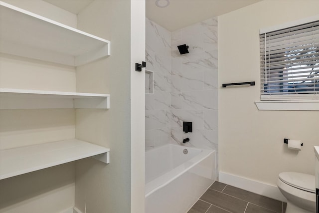
[[[186,213],[214,181],[214,150],[173,144],[148,150],[146,213]]]

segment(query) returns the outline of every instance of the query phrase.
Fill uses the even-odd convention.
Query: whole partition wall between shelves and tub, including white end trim
[[[77,91],[111,95],[108,110],[76,110],[76,138],[111,150],[108,165],[76,162],[75,206],[82,212],[144,212],[145,73],[135,71],[145,58],[144,3],[96,0],[78,14],[79,29],[111,41],[109,57],[77,67]]]

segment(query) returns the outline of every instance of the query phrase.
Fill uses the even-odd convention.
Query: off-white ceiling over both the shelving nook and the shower
[[[74,14],[94,0],[44,0]],[[146,16],[169,31],[225,14],[260,0],[169,0],[167,7],[156,6],[156,0],[146,0]]]

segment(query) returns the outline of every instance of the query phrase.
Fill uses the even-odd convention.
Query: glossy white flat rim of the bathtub
[[[186,147],[186,146],[181,146],[181,145],[176,145],[176,144],[165,144],[162,146],[154,147],[152,149],[147,150],[146,152],[149,151],[154,151],[156,149],[160,149],[164,146],[178,146],[182,147],[185,149],[195,149],[199,150],[200,153],[186,161],[185,163],[175,167],[173,170],[161,175],[160,177],[150,181],[149,183],[145,184],[145,198],[150,196],[152,193],[156,192],[157,190],[165,187],[168,185],[170,182],[174,181],[181,175],[183,175],[185,172],[202,162],[204,159],[206,159],[209,155],[213,154],[216,152],[216,150],[213,149],[200,149],[200,148],[195,148],[195,147]],[[191,163],[190,163],[191,162]],[[188,164],[188,165],[187,165]],[[162,184],[164,182],[164,184]],[[151,188],[151,189],[150,189]]]

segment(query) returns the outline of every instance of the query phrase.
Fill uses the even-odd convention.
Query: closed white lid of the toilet
[[[283,172],[279,174],[279,179],[292,187],[316,193],[316,180],[314,175],[298,172]]]

